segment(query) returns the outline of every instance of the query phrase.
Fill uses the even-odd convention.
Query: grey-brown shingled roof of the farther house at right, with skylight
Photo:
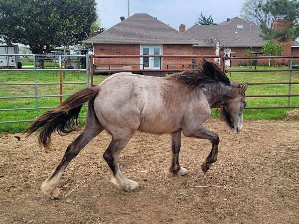
[[[240,25],[244,29],[238,29]],[[187,36],[201,42],[196,45],[198,47],[215,46],[218,41],[221,46],[226,47],[263,47],[266,41],[260,36],[261,33],[259,26],[239,17],[217,25],[193,25],[184,32]]]

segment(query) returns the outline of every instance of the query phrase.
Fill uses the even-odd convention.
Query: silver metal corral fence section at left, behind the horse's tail
[[[0,69],[0,73],[1,72],[32,72],[32,82],[5,82],[5,83],[0,83],[0,87],[11,87],[11,91],[12,92],[13,89],[16,86],[24,86],[24,87],[33,87],[34,88],[34,95],[31,96],[0,96],[0,100],[11,100],[14,101],[16,99],[35,99],[35,106],[34,107],[17,107],[17,108],[0,108],[0,113],[1,112],[8,112],[8,111],[35,111],[36,117],[39,115],[39,111],[40,110],[48,110],[48,109],[53,109],[56,108],[56,106],[51,106],[51,107],[40,107],[39,106],[39,100],[41,98],[60,98],[60,103],[63,101],[63,97],[67,97],[67,96],[71,96],[71,94],[63,94],[63,86],[65,85],[77,85],[77,84],[82,84],[82,85],[86,85],[86,87],[89,86],[89,55],[37,55],[37,54],[0,54],[0,56],[22,56],[23,58],[32,58],[33,59],[33,68],[27,68],[27,69],[11,69],[11,68],[1,68]],[[48,59],[51,57],[55,57],[59,60],[59,67],[53,69],[38,69],[37,68],[37,61],[39,59]],[[65,66],[63,66],[63,62],[65,61],[70,61],[71,59],[76,59],[77,61],[84,61],[85,65],[83,66],[84,68],[80,68],[80,66],[78,68],[65,68]],[[32,67],[32,66],[31,66]],[[82,67],[82,66],[81,66]],[[86,73],[86,79],[83,82],[65,82],[62,79],[62,73],[64,72],[74,72],[77,71],[78,73],[80,72],[85,72]],[[59,72],[59,82],[38,82],[37,81],[37,73],[39,72]],[[54,75],[53,75],[54,77]],[[59,87],[59,95],[38,95],[38,89],[40,86],[58,86]],[[9,120],[0,120],[0,124],[6,124],[6,123],[18,123],[18,122],[30,122],[33,121],[34,119],[9,119]]]

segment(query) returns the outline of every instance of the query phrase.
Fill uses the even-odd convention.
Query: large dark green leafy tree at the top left
[[[1,0],[0,38],[44,54],[87,38],[96,19],[95,0]]]

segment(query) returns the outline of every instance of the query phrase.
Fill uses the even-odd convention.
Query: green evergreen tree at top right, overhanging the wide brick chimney
[[[283,30],[263,28],[263,38],[266,40],[278,39],[281,42],[289,39],[295,40],[299,37],[299,1],[298,0],[270,0],[264,5],[263,10],[271,13],[277,18],[289,20],[290,26]]]

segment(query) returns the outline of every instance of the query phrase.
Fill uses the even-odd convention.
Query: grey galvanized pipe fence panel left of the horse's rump
[[[31,83],[17,83],[17,82],[9,82],[9,83],[0,83],[0,87],[1,86],[32,86],[34,87],[34,95],[32,96],[3,96],[0,97],[0,100],[5,100],[5,99],[30,99],[30,98],[34,98],[35,99],[35,107],[30,107],[30,108],[26,108],[26,107],[19,107],[19,108],[3,108],[0,109],[0,112],[7,112],[7,111],[32,111],[35,110],[36,113],[36,117],[38,117],[39,115],[39,110],[48,110],[48,109],[53,109],[56,108],[58,105],[56,106],[52,106],[52,107],[40,107],[39,106],[39,99],[40,98],[56,98],[59,97],[60,98],[60,102],[62,102],[62,97],[67,97],[67,96],[71,96],[70,94],[62,94],[62,87],[63,85],[74,85],[74,84],[85,84],[86,87],[90,86],[89,83],[89,55],[34,55],[34,54],[0,54],[0,56],[25,56],[25,57],[33,57],[33,69],[29,68],[29,69],[0,69],[0,72],[10,72],[10,71],[17,71],[17,72],[33,72],[33,77],[32,77],[32,81]],[[71,59],[72,58],[79,58],[81,61],[81,58],[85,59],[85,69],[80,69],[79,67],[76,69],[65,69],[65,68],[61,68],[59,67],[58,69],[37,69],[37,57],[63,57],[63,58],[67,58],[69,57]],[[43,82],[43,83],[38,83],[37,81],[37,73],[38,72],[65,72],[65,71],[78,71],[80,72],[85,72],[86,75],[86,81],[84,82],[63,82],[61,80],[61,74],[60,74],[60,81],[59,82]],[[54,75],[53,75],[54,76]],[[45,85],[59,85],[60,87],[60,94],[59,95],[38,95],[38,86],[45,86]],[[80,116],[80,117],[84,117],[84,116]],[[33,121],[34,119],[26,119],[26,120],[4,120],[4,121],[0,121],[0,124],[8,124],[8,123],[18,123],[18,122],[30,122]]]

